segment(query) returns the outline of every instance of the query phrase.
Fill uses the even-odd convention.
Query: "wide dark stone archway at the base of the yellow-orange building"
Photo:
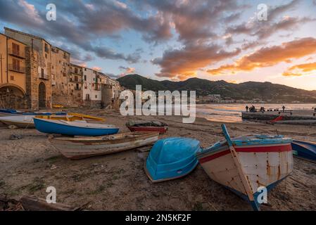
[[[19,86],[0,86],[0,108],[25,109],[25,92]]]

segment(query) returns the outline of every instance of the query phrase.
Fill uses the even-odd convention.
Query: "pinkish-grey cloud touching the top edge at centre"
[[[201,43],[209,39],[215,39],[218,35],[213,32],[220,20],[234,20],[238,13],[225,15],[225,12],[240,10],[246,6],[239,6],[237,1],[206,1],[206,0],[137,0],[144,7],[156,8],[164,18],[170,18],[175,30],[179,34],[179,40],[184,43]]]

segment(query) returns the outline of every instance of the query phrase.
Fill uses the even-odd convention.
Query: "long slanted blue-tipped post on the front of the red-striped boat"
[[[241,182],[245,188],[245,191],[248,195],[248,198],[249,198],[249,201],[251,202],[251,206],[253,207],[253,210],[260,210],[257,203],[255,202],[254,198],[253,198],[253,192],[251,191],[251,186],[248,182],[248,179],[246,178],[246,174],[244,173],[244,169],[243,167],[241,166],[241,162],[238,158],[238,155],[236,153],[236,149],[234,148],[233,146],[233,143],[232,143],[232,139],[230,139],[230,136],[228,134],[228,131],[227,131],[227,128],[225,126],[225,124],[222,124],[222,132],[223,134],[225,135],[225,139],[227,141],[227,144],[229,146],[229,150],[230,150],[230,153],[232,153],[232,158],[234,160],[234,163],[238,169],[238,173],[239,173],[239,176],[241,178]]]

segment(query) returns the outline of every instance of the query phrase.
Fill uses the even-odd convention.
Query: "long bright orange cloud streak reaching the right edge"
[[[221,75],[227,72],[235,74],[241,71],[251,71],[255,68],[265,68],[291,59],[301,58],[316,52],[316,39],[307,37],[259,49],[236,60],[234,64],[222,65],[220,68],[208,70],[210,75]]]

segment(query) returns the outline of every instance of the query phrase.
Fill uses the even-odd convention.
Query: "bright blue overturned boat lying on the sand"
[[[145,172],[153,182],[177,179],[189,174],[198,165],[196,139],[171,137],[157,141],[148,155]]]

